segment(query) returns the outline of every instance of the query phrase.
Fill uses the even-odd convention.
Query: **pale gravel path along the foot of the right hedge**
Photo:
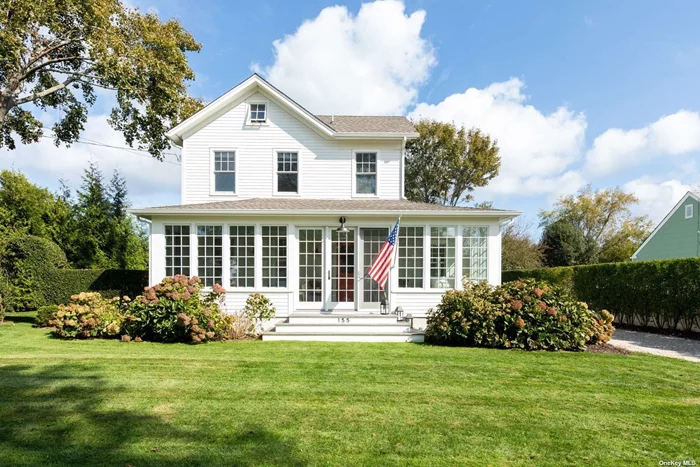
[[[615,347],[700,363],[700,341],[648,332],[616,329],[610,341]]]

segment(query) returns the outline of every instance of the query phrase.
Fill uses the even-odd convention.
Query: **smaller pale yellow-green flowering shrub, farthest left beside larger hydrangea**
[[[68,305],[59,305],[49,320],[59,337],[116,337],[124,321],[126,302],[119,298],[105,299],[98,292],[81,292],[70,298]]]

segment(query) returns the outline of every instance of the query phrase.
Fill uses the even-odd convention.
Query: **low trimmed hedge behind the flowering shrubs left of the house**
[[[105,298],[136,297],[148,286],[148,271],[129,269],[53,269],[39,284],[41,305],[66,305],[71,295],[99,292]]]

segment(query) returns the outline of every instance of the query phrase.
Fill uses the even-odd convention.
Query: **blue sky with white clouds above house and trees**
[[[312,112],[428,116],[484,129],[502,147],[502,176],[476,198],[529,219],[592,183],[634,192],[637,212],[658,221],[700,186],[696,1],[136,5],[178,18],[202,43],[191,57],[191,91],[206,100],[259,70]],[[105,122],[109,104],[104,96],[93,109],[86,135],[121,145]],[[95,158],[125,172],[136,206],[179,201],[176,165],[78,146],[66,152],[46,142],[2,165],[54,188],[59,176],[77,183]]]

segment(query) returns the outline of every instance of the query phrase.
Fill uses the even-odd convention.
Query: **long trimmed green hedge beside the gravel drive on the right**
[[[568,289],[625,324],[700,327],[700,258],[504,271],[502,280],[533,278]]]

